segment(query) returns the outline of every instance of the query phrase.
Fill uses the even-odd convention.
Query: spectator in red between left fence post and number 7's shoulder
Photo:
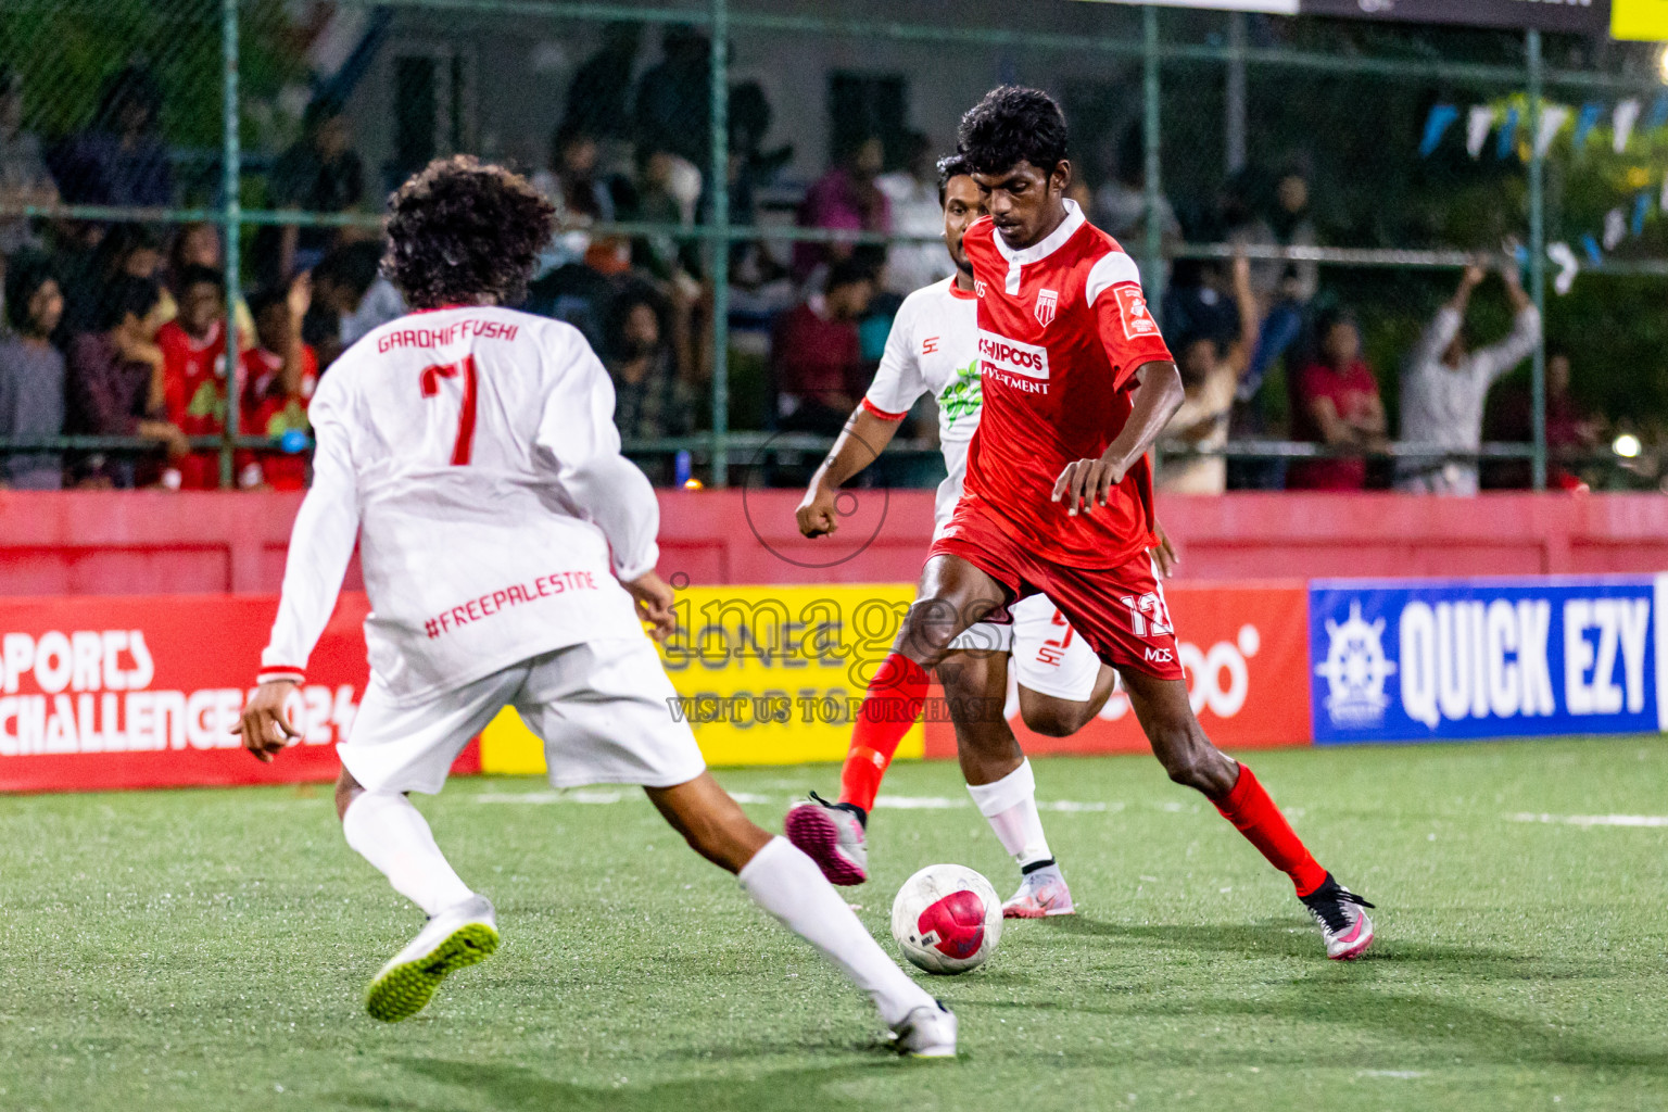
[[[265,290],[250,298],[255,347],[244,352],[244,427],[254,437],[312,432],[307,405],[319,385],[319,357],[302,340],[310,300],[307,275],[287,290]],[[255,452],[240,462],[239,485],[300,490],[307,485],[307,455],[282,448]]]

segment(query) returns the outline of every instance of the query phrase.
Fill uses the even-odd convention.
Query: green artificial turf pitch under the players
[[[329,790],[3,799],[0,1109],[1668,1107],[1668,827],[1513,819],[1668,815],[1668,745],[1249,760],[1378,902],[1371,957],[1323,960],[1286,879],[1153,760],[1037,760],[1044,800],[1104,805],[1044,814],[1079,915],[931,979],[961,1015],[952,1064],[889,1057],[867,1004],[634,790],[420,800],[504,942],[399,1025],[364,992],[420,914],[342,842]],[[721,779],[767,825],[834,787]],[[952,764],[886,792],[952,805],[876,810],[851,899],[877,937],[934,860],[1006,895]]]

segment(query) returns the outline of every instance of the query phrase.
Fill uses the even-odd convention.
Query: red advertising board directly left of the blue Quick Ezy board
[[[1174,584],[1164,589],[1164,599],[1176,620],[1193,710],[1211,740],[1224,749],[1308,745],[1313,734],[1306,585]],[[1113,692],[1099,717],[1071,737],[1027,730],[1012,690],[1007,720],[1027,754],[1148,752],[1123,692]],[[926,755],[956,755],[956,730],[949,722],[927,722]]]

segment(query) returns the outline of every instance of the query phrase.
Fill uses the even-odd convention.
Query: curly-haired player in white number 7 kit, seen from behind
[[[614,387],[580,333],[505,303],[552,230],[520,177],[430,163],[394,197],[384,272],[415,312],[377,328],[314,397],[314,482],[284,599],[244,710],[272,760],[359,542],[370,684],[340,745],[349,845],[429,924],[377,974],[367,1010],[400,1020],[497,949],[492,904],[452,870],[407,792],[437,792],[470,737],[515,707],[550,782],[641,784],[689,844],[864,989],[904,1054],[949,1057],[956,1017],[892,962],[801,850],[706,772],[642,620],[676,627],[656,574],[659,507],[620,453]]]

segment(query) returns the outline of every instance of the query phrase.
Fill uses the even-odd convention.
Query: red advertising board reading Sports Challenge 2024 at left
[[[342,595],[290,702],[302,739],[264,765],[232,725],[277,604],[269,595],[0,599],[0,790],[334,779],[334,744],[365,694],[369,605],[362,594]]]

